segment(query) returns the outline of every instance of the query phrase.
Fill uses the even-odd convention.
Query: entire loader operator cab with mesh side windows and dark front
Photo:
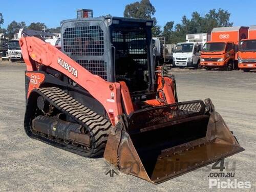
[[[153,20],[111,16],[64,20],[61,50],[106,81],[124,81],[132,97],[151,95],[152,27]]]

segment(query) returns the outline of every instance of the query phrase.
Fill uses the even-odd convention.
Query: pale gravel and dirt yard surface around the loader
[[[158,185],[122,173],[111,178],[103,158],[87,159],[30,139],[23,127],[25,70],[24,63],[0,62],[0,191],[209,191],[209,169]],[[179,100],[211,98],[245,148],[225,163],[235,165],[231,180],[250,181],[251,188],[229,190],[255,191],[256,73],[173,69],[173,74]]]

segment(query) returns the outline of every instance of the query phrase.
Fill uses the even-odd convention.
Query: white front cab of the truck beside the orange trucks
[[[180,68],[197,68],[200,64],[202,46],[200,42],[179,42],[174,49],[173,65]]]

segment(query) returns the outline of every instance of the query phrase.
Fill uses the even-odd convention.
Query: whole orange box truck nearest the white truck
[[[248,37],[249,27],[220,27],[211,31],[201,52],[201,67],[206,70],[223,68],[238,69],[238,45]]]

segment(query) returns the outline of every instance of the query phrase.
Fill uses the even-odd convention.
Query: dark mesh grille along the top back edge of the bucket
[[[144,128],[187,117],[203,115],[204,112],[205,104],[202,100],[179,102],[135,111],[130,114],[129,122],[131,129],[138,127]]]

